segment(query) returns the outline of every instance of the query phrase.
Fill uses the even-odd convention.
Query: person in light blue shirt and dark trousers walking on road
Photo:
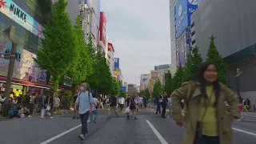
[[[75,101],[74,104],[74,110],[78,110],[78,114],[80,114],[80,120],[82,123],[82,130],[81,134],[79,137],[81,139],[86,139],[86,135],[88,135],[88,130],[87,130],[87,120],[89,118],[89,115],[92,114],[92,109],[93,109],[93,96],[89,92],[90,90],[90,85],[87,82],[84,82],[80,86],[81,93],[78,94],[78,98]],[[78,109],[79,106],[79,109]]]

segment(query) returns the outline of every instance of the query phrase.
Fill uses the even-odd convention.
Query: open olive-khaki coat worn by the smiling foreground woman
[[[183,144],[194,144],[195,139],[195,129],[198,122],[199,114],[199,97],[201,95],[200,83],[198,82],[185,82],[182,87],[174,90],[171,94],[172,98],[172,114],[174,120],[183,119],[181,113],[181,100],[186,99],[190,96],[190,101],[188,103],[188,108],[185,112],[184,121],[186,123],[186,130],[183,139]],[[217,106],[217,117],[218,117],[218,134],[220,138],[220,144],[232,144],[232,122],[234,118],[239,117],[239,98],[237,94],[226,86],[222,85],[222,90],[220,92],[220,97],[218,98]],[[194,92],[192,92],[194,91]],[[228,102],[230,105],[228,111],[226,111],[226,105],[224,102]]]

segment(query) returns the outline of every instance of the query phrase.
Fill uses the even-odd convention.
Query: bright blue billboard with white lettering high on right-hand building
[[[178,0],[175,5],[176,38],[190,26],[191,14],[198,8],[198,0]]]

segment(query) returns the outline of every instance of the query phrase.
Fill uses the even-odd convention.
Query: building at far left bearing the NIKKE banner
[[[34,62],[35,51],[42,47],[43,24],[49,18],[50,1],[42,3],[38,1],[5,0],[0,7],[0,30],[6,30],[9,26],[15,27],[15,41],[18,43],[16,61],[14,62],[14,74],[11,92],[15,95],[35,92],[42,94],[42,90],[49,89],[46,85],[46,71],[42,70]],[[48,7],[42,10],[42,5]],[[10,53],[12,43],[10,38],[0,34],[0,87],[5,91],[6,76],[9,59],[3,58],[3,54]]]

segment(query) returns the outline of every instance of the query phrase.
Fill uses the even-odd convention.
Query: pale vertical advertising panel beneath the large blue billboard
[[[186,31],[184,31],[177,42],[177,57],[178,57],[178,66],[185,66],[186,63]]]

